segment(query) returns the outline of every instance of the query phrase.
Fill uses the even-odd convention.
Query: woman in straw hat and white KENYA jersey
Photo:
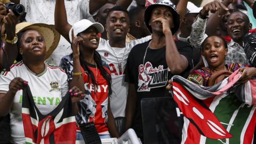
[[[43,23],[19,23],[13,33],[18,35],[15,49],[19,47],[22,60],[11,66],[10,71],[0,75],[0,116],[10,112],[11,143],[25,143],[21,102],[23,85],[29,85],[37,108],[43,114],[49,114],[60,103],[68,91],[67,75],[60,67],[45,63],[58,45],[60,35],[54,26]],[[82,92],[73,87],[69,92],[73,102],[81,99]]]

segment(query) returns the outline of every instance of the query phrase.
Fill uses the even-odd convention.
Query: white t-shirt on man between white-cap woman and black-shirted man
[[[126,43],[126,47],[120,48],[111,47],[109,41],[100,38],[100,44],[97,51],[100,53],[102,60],[106,61],[110,68],[112,78],[111,89],[113,92],[110,96],[110,107],[114,117],[125,117],[125,106],[129,84],[124,82],[124,69],[128,55],[134,45],[147,42],[149,39],[151,39],[151,36],[135,39],[130,43]],[[119,71],[118,69],[118,61],[116,57],[118,61],[121,62],[122,71]]]

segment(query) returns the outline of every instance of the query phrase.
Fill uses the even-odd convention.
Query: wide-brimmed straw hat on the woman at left
[[[55,30],[54,25],[47,25],[45,23],[29,23],[21,22],[16,25],[16,34],[27,29],[37,30],[44,37],[46,45],[45,59],[49,58],[52,52],[56,49],[60,41],[60,34]]]

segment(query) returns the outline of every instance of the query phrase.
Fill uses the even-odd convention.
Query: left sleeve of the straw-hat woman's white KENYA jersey
[[[0,75],[0,93],[7,93],[9,91],[9,84],[14,79],[12,71],[2,71]]]

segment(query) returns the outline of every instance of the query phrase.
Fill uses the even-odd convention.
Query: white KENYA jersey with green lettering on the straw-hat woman
[[[12,65],[9,72],[0,75],[0,93],[9,91],[9,84],[15,77],[21,77],[28,82],[34,101],[40,112],[49,114],[56,108],[62,97],[68,92],[67,75],[60,67],[45,64],[41,74],[35,74],[23,62]],[[54,84],[53,84],[54,83]],[[54,85],[54,86],[53,86]],[[57,86],[58,87],[57,87]],[[11,142],[25,143],[25,134],[21,113],[22,90],[15,94],[10,111]]]

